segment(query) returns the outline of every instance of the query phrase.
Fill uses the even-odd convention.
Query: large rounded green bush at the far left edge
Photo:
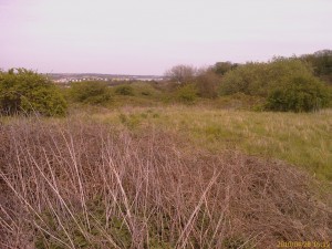
[[[39,113],[61,116],[66,102],[45,76],[25,69],[0,72],[0,111],[4,115]]]

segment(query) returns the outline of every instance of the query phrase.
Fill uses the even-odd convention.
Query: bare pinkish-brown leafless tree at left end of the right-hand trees
[[[196,76],[197,70],[191,65],[175,65],[165,72],[165,76],[170,81],[187,84],[190,83]]]

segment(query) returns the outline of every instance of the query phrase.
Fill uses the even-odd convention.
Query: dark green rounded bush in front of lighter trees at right
[[[272,111],[312,112],[329,103],[326,86],[315,77],[295,76],[271,91],[267,108]]]

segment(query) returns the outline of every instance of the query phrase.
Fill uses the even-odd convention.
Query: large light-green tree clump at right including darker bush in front
[[[277,58],[270,63],[247,63],[225,74],[222,95],[245,93],[267,98],[271,111],[310,112],[326,106],[330,95],[309,63]]]

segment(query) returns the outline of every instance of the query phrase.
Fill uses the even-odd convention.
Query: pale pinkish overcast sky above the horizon
[[[0,69],[160,75],[332,49],[331,0],[0,0]]]

